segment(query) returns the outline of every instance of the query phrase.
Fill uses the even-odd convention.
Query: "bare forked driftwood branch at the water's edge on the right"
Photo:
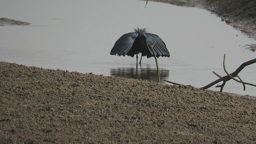
[[[227,70],[226,70],[226,67],[225,67],[225,59],[226,59],[226,54],[224,54],[223,67],[224,67],[224,70],[225,70],[227,76],[221,77],[220,75],[218,75],[218,74],[216,74],[216,73],[214,72],[214,74],[216,74],[216,76],[218,76],[219,79],[218,79],[218,80],[215,80],[214,82],[211,82],[210,84],[208,84],[208,85],[206,85],[206,86],[204,86],[204,87],[202,87],[202,89],[210,88],[210,87],[213,86],[214,84],[217,84],[217,83],[223,81],[222,85],[216,86],[216,87],[220,87],[220,92],[222,92],[223,87],[224,87],[224,85],[226,84],[226,82],[227,82],[228,80],[231,80],[231,79],[234,79],[234,80],[236,80],[237,82],[242,83],[243,86],[244,86],[244,90],[245,90],[245,84],[248,84],[248,85],[251,85],[251,86],[256,86],[255,84],[250,84],[250,83],[247,83],[247,82],[243,82],[243,81],[241,80],[241,78],[238,76],[238,73],[241,72],[241,70],[242,70],[244,67],[246,67],[246,66],[248,66],[248,65],[250,65],[250,64],[255,63],[255,62],[256,62],[256,58],[253,59],[253,60],[249,60],[249,61],[247,61],[247,62],[244,62],[243,64],[241,64],[241,65],[236,69],[236,71],[234,71],[234,72],[231,73],[231,74],[229,74],[229,73],[227,72]],[[237,79],[235,79],[234,77],[238,77],[240,80],[237,80]]]

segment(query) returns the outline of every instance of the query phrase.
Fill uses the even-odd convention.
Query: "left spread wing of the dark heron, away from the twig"
[[[130,32],[128,34],[124,34],[116,41],[110,54],[112,54],[112,55],[117,54],[118,56],[125,56],[129,52],[129,50],[132,48],[132,44],[137,36],[138,36],[138,34],[135,32]]]

